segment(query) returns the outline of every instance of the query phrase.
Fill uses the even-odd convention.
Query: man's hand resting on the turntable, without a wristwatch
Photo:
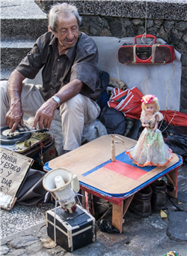
[[[10,107],[10,110],[7,112],[5,116],[5,124],[10,127],[10,132],[14,132],[18,125],[25,127],[22,120],[22,116],[23,111],[20,104],[16,104],[16,106]]]

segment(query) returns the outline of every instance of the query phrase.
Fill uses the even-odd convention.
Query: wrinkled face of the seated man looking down
[[[70,48],[76,44],[79,37],[79,26],[74,14],[67,17],[58,17],[57,36],[61,47]]]

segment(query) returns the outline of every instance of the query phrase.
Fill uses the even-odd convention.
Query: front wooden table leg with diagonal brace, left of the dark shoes
[[[132,198],[134,197],[134,194],[132,194],[131,197],[128,197],[126,200],[123,200],[120,205],[112,204],[112,225],[117,228],[117,230],[122,233],[122,225],[124,223],[123,216],[126,214],[126,211],[129,207],[129,204],[132,201]]]

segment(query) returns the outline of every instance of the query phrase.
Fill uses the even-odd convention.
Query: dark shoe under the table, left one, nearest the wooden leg
[[[129,209],[135,213],[135,215],[140,215],[142,217],[150,216],[151,214],[151,197],[152,188],[150,185],[141,189],[135,193],[132,202],[129,205]]]

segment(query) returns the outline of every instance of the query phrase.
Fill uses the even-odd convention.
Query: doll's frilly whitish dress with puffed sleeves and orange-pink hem
[[[150,122],[150,127],[154,128],[156,115],[159,115],[159,121],[163,119],[162,113],[157,112],[148,120],[145,113],[145,110],[141,112],[141,122]],[[144,128],[137,144],[126,151],[126,155],[129,155],[129,158],[140,167],[165,166],[173,158],[172,150],[165,144],[159,129],[156,129],[152,137],[153,128]]]

